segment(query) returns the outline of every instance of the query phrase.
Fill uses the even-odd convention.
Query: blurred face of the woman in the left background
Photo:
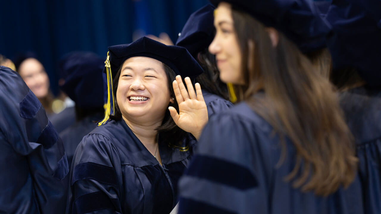
[[[46,97],[49,93],[49,78],[42,64],[34,58],[24,60],[18,70],[26,85],[38,99]]]

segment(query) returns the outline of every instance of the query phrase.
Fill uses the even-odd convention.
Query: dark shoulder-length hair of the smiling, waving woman
[[[123,65],[123,64],[122,64]],[[170,91],[170,96],[173,98],[174,103],[171,102],[168,104],[169,106],[173,106],[177,112],[179,112],[179,105],[176,101],[176,96],[174,95],[172,82],[176,78],[176,73],[166,64],[163,63],[163,69],[166,73],[167,80],[168,80],[168,88]],[[119,67],[117,74],[115,75],[114,82],[112,84],[113,89],[113,96],[115,101],[115,110],[114,115],[110,115],[110,119],[112,120],[121,120],[122,119],[122,113],[120,112],[118,102],[116,99],[117,89],[118,89],[118,82],[120,77],[120,72],[122,70],[122,66]],[[171,114],[168,110],[168,108],[165,111],[163,123],[161,126],[156,128],[158,131],[158,136],[160,138],[160,141],[167,142],[168,145],[179,145],[181,144],[181,141],[186,137],[187,132],[179,128],[176,123],[174,123]]]

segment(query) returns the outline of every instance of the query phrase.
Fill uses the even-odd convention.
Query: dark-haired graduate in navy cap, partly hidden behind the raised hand
[[[214,9],[212,5],[205,5],[192,13],[176,41],[176,45],[186,48],[204,70],[196,82],[200,83],[208,117],[233,106],[229,101],[226,83],[219,79],[215,56],[208,51],[216,33],[213,26]]]

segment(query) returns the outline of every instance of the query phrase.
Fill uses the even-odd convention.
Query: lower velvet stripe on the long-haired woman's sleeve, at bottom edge
[[[209,214],[209,213],[218,213],[218,214],[235,214],[235,212],[227,211],[225,209],[218,208],[211,204],[202,203],[200,201],[195,201],[189,198],[180,198],[179,211],[178,214]]]

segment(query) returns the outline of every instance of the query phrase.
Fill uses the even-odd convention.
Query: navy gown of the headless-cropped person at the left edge
[[[37,97],[0,67],[0,213],[64,213],[69,172],[62,141]]]

